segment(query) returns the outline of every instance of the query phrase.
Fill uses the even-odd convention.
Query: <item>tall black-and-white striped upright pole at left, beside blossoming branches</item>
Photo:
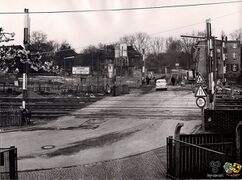
[[[24,9],[24,47],[27,52],[29,49],[30,43],[30,18],[29,18],[29,10]],[[26,58],[28,59],[28,54],[26,53]],[[26,109],[26,100],[28,100],[28,91],[27,91],[27,61],[23,63],[23,100],[22,107]]]

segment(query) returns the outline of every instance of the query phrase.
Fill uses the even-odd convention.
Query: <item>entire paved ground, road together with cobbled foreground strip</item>
[[[0,140],[18,148],[20,179],[162,179],[166,137],[179,122],[182,133],[201,125],[191,91],[134,90],[33,130],[2,133]]]

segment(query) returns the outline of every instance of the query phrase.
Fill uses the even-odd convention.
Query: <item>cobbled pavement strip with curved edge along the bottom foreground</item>
[[[157,148],[125,158],[85,165],[21,171],[20,180],[124,180],[169,179],[166,177],[166,148]]]

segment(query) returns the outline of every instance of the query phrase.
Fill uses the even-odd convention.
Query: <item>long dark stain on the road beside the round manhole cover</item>
[[[60,156],[60,155],[71,155],[74,153],[78,153],[81,150],[94,148],[94,147],[103,147],[105,145],[110,145],[117,141],[120,141],[121,139],[126,138],[138,131],[140,131],[140,130],[123,132],[123,133],[114,132],[114,133],[105,134],[105,135],[91,138],[91,139],[77,141],[77,142],[71,143],[70,146],[68,146],[68,147],[58,149],[58,150],[50,152],[46,155],[47,155],[47,157],[55,157],[55,156]]]

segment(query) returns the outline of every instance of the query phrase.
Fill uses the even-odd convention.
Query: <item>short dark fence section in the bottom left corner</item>
[[[18,179],[17,148],[0,148],[0,179]]]

